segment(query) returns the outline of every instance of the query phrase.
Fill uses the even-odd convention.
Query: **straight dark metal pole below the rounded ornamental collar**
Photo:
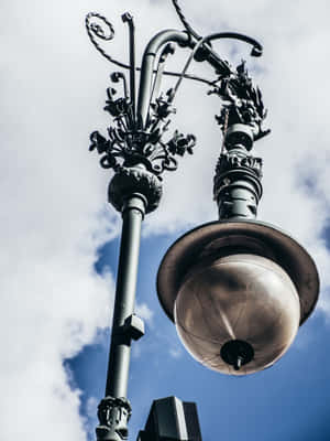
[[[134,315],[141,224],[146,200],[133,194],[122,208],[122,235],[117,277],[106,398],[98,408],[98,441],[128,439],[131,406],[127,399],[131,342],[144,334],[143,322]]]

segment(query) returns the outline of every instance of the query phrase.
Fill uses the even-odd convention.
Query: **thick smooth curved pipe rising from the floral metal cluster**
[[[152,76],[154,73],[155,60],[160,49],[168,42],[182,45],[190,44],[189,35],[183,31],[166,30],[157,33],[146,46],[142,66],[138,100],[138,126],[143,130],[147,119],[148,103],[152,93]]]

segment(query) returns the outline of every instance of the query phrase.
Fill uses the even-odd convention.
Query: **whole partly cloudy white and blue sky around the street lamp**
[[[212,173],[221,146],[216,97],[184,84],[172,122],[198,138],[194,157],[164,176],[160,209],[143,229],[138,290],[147,336],[134,345],[132,433],[151,401],[169,395],[198,402],[205,440],[320,440],[330,437],[327,384],[330,318],[330,53],[327,0],[182,0],[201,34],[234,30],[262,42],[264,56],[230,42],[218,52],[248,67],[268,108],[258,141],[264,196],[258,218],[289,232],[315,258],[321,294],[314,316],[274,368],[235,379],[199,366],[157,304],[155,276],[184,232],[217,218]],[[138,55],[161,29],[182,25],[169,0],[2,0],[0,439],[91,438],[102,398],[120,216],[109,206],[110,174],[88,152],[106,132],[102,111],[111,66],[88,41],[85,15],[116,28],[107,50],[128,60],[121,14],[135,18]],[[187,53],[178,50],[173,67]],[[201,65],[193,72],[212,78]],[[169,84],[169,83],[168,83]],[[311,430],[312,432],[308,432]],[[314,434],[311,434],[314,433]],[[306,438],[304,438],[306,437]],[[319,437],[319,438],[318,438]],[[133,439],[133,438],[132,438]]]

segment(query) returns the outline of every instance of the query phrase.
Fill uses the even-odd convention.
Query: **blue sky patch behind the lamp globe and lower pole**
[[[131,439],[143,428],[153,399],[175,395],[198,405],[202,437],[245,440],[317,440],[330,437],[327,386],[329,325],[315,314],[298,332],[288,353],[272,368],[246,376],[217,374],[199,365],[180,345],[175,326],[158,305],[157,267],[175,236],[144,238],[141,248],[138,301],[154,312],[146,336],[134,343],[129,397],[133,406]],[[117,266],[118,240],[100,250],[98,269]],[[102,397],[109,333],[68,362],[75,387],[84,390],[81,413],[90,397]],[[94,401],[96,405],[96,401]],[[88,410],[90,412],[90,409]],[[92,415],[92,413],[91,413]],[[88,416],[94,437],[95,417]]]

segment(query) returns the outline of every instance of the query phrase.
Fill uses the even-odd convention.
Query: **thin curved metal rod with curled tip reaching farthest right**
[[[210,34],[210,35],[205,36],[204,39],[199,40],[199,42],[195,45],[195,47],[194,47],[194,50],[193,50],[193,52],[191,52],[186,65],[185,65],[183,72],[182,72],[182,75],[180,75],[179,79],[177,80],[177,83],[176,83],[176,85],[175,85],[175,87],[173,89],[173,94],[172,94],[170,99],[169,99],[170,103],[173,101],[173,99],[174,99],[174,97],[175,97],[175,95],[177,93],[177,89],[179,88],[179,86],[182,84],[182,80],[185,77],[185,75],[187,73],[187,69],[190,66],[190,64],[191,64],[197,51],[202,45],[205,45],[207,43],[210,43],[213,40],[221,40],[221,39],[234,39],[234,40],[240,40],[240,41],[243,41],[245,43],[249,43],[249,44],[251,44],[253,46],[252,51],[251,51],[251,55],[252,56],[261,56],[262,55],[263,46],[256,40],[252,39],[251,36],[244,35],[244,34],[240,34],[240,33],[237,33],[237,32],[217,32],[215,34]],[[207,50],[208,50],[208,47],[207,47]]]

